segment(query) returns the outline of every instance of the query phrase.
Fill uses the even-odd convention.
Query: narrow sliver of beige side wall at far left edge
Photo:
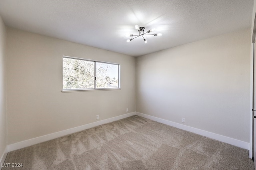
[[[6,27],[0,16],[0,158],[6,148]]]

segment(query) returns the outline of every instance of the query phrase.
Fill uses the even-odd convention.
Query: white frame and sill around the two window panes
[[[79,59],[79,60],[94,62],[94,89],[63,89],[63,58]],[[96,63],[106,63],[106,64],[118,65],[118,87],[116,87],[116,88],[96,88]],[[65,55],[62,56],[62,92],[105,91],[105,90],[120,90],[120,89],[121,89],[120,64],[91,60],[91,59],[84,59],[84,58],[78,58],[78,57],[70,57],[70,56],[65,56]]]

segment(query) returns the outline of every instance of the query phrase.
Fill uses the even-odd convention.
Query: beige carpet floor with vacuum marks
[[[15,170],[254,170],[248,150],[138,116],[9,152],[5,163],[22,163]]]

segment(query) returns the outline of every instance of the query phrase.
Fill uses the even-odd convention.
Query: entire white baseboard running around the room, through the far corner
[[[227,137],[227,136],[222,136],[220,134],[215,134],[215,133],[212,133],[212,132],[208,132],[208,131],[205,131],[205,130],[201,130],[201,129],[198,129],[198,128],[189,127],[189,126],[186,126],[186,125],[182,125],[182,124],[179,124],[179,123],[175,123],[175,122],[172,122],[172,121],[161,119],[161,118],[158,118],[158,117],[146,115],[146,114],[143,114],[143,113],[132,112],[132,113],[127,113],[125,115],[120,115],[120,116],[117,116],[117,117],[104,119],[102,121],[89,123],[89,124],[82,125],[82,126],[79,126],[79,127],[74,127],[74,128],[70,128],[70,129],[67,129],[67,130],[62,130],[60,132],[46,134],[44,136],[39,136],[39,137],[36,137],[36,138],[24,140],[22,142],[9,144],[6,147],[5,152],[3,153],[3,155],[0,159],[0,161],[1,161],[0,163],[4,163],[7,152],[11,152],[13,150],[17,150],[17,149],[25,148],[25,147],[28,147],[28,146],[32,146],[34,144],[38,144],[38,143],[41,143],[41,142],[46,142],[48,140],[52,140],[52,139],[55,139],[55,138],[58,138],[58,137],[61,137],[61,136],[65,136],[65,135],[68,135],[68,134],[79,132],[79,131],[82,131],[82,130],[85,130],[85,129],[88,129],[88,128],[96,127],[96,126],[103,125],[103,124],[106,124],[106,123],[110,123],[110,122],[113,122],[113,121],[118,121],[120,119],[124,119],[126,117],[130,117],[130,116],[133,116],[133,115],[138,115],[140,117],[144,117],[144,118],[156,121],[156,122],[160,122],[160,123],[163,123],[163,124],[166,124],[166,125],[170,125],[172,127],[180,128],[180,129],[183,129],[183,130],[187,130],[189,132],[193,132],[193,133],[196,133],[196,134],[200,134],[202,136],[206,136],[208,138],[212,138],[212,139],[215,139],[215,140],[219,140],[221,142],[232,144],[234,146],[238,146],[240,148],[247,149],[250,152],[250,143],[247,143],[247,142],[244,142],[244,141],[241,141],[241,140],[237,140],[237,139],[234,139],[234,138],[230,138],[230,137]]]

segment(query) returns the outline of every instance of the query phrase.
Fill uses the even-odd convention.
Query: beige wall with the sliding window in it
[[[62,55],[119,63],[121,90],[62,93]],[[135,111],[134,57],[7,28],[8,144]]]

